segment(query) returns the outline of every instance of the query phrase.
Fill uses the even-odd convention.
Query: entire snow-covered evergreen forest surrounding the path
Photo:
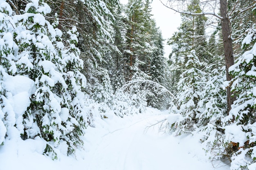
[[[211,159],[252,166],[256,1],[168,0],[182,16],[168,60],[151,2],[0,0],[0,144],[40,137],[57,159],[60,145],[67,155],[82,148],[96,114],[152,106],[170,110],[175,135],[200,133]],[[20,82],[26,90],[13,89]]]

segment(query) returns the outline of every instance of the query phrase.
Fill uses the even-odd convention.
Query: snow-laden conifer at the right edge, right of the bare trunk
[[[229,115],[223,120],[225,141],[233,144],[231,169],[248,169],[256,165],[256,27],[248,31],[243,41],[244,46],[252,48],[240,56],[229,71],[234,76],[231,91],[236,101],[231,106]]]

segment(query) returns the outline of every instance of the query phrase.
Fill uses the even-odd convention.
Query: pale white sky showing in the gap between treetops
[[[126,4],[128,0],[120,0],[121,3]],[[163,0],[166,2],[166,0]],[[177,27],[180,26],[181,18],[179,13],[175,13],[171,9],[164,7],[164,5],[160,2],[160,0],[153,0],[152,4],[152,14],[153,18],[155,18],[157,22],[157,26],[159,26],[162,31],[162,35],[164,39],[171,38],[173,33],[177,31]],[[164,45],[164,56],[168,58],[171,53],[171,46]]]

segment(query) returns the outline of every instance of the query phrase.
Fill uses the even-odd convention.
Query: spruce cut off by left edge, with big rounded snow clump
[[[19,47],[16,44],[16,20],[7,2],[0,1],[0,143],[18,140],[24,133],[23,114],[30,96],[35,92],[34,81],[27,75],[18,75],[16,62]],[[20,100],[22,98],[22,100]]]

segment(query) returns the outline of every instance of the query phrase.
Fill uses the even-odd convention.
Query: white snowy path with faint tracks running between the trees
[[[125,126],[115,126],[88,153],[86,170],[213,170],[196,139],[159,133],[158,126],[147,128],[167,116],[134,116]],[[224,169],[227,167],[218,168]]]

